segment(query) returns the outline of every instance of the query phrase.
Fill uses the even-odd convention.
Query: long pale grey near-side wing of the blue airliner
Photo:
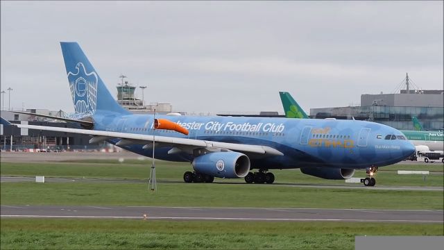
[[[94,135],[97,140],[90,140],[90,142],[99,142],[101,140],[106,140],[110,138],[119,138],[121,139],[117,142],[117,146],[125,145],[125,144],[148,144],[149,142],[153,142],[160,144],[168,144],[173,147],[180,148],[219,148],[219,149],[229,149],[232,151],[241,151],[246,153],[259,153],[268,156],[283,156],[284,154],[277,149],[273,149],[272,147],[262,146],[262,145],[252,145],[252,144],[237,144],[237,143],[229,143],[229,142],[214,142],[207,140],[196,140],[196,139],[188,139],[188,138],[173,138],[168,136],[160,136],[160,135],[141,135],[135,133],[121,133],[121,132],[111,132],[111,131],[94,131],[80,128],[62,128],[62,127],[52,127],[52,126],[37,126],[37,125],[26,125],[26,124],[15,124],[19,128],[30,128],[37,129],[42,131],[58,131],[58,132],[67,132],[67,133],[78,133],[83,135]]]

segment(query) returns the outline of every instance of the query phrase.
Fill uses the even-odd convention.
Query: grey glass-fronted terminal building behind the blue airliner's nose
[[[411,90],[409,76],[405,90],[396,94],[362,94],[361,106],[311,108],[311,118],[360,119],[386,124],[400,130],[413,130],[412,117],[429,131],[444,127],[444,91]]]

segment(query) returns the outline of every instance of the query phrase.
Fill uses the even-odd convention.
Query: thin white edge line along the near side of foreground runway
[[[92,216],[92,215],[1,215],[0,217],[23,218],[74,218],[74,219],[144,219],[143,216]],[[239,220],[239,221],[275,221],[275,222],[416,222],[443,223],[434,220],[410,219],[297,219],[297,218],[231,218],[231,217],[148,217],[148,219],[178,219],[178,220]]]

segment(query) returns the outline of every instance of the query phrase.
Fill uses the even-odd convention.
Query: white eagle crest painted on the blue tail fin
[[[69,89],[77,117],[96,113],[97,81],[96,72],[86,72],[83,63],[77,63],[77,72],[68,72]]]

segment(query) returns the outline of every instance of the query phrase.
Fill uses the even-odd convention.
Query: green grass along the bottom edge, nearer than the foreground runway
[[[359,235],[443,235],[442,224],[1,219],[1,249],[354,249]]]

